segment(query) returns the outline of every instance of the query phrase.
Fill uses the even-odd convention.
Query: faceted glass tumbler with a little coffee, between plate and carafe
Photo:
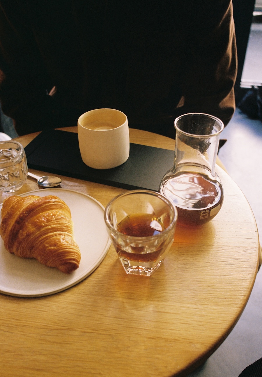
[[[108,234],[127,274],[151,276],[173,240],[177,210],[163,195],[133,190],[116,196],[105,209]]]

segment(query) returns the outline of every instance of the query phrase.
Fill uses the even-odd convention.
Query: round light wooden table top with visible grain
[[[18,140],[26,146],[36,135]],[[130,140],[174,149],[174,140],[145,131],[130,129]],[[68,290],[38,298],[0,294],[5,377],[185,376],[203,363],[244,310],[259,260],[250,206],[227,173],[217,172],[225,190],[219,214],[199,228],[177,227],[151,277],[126,275],[111,246],[100,266]],[[125,191],[61,178],[62,188],[103,206]],[[28,178],[15,194],[35,189]]]

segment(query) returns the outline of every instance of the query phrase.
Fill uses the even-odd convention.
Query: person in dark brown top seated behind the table
[[[174,119],[235,109],[231,0],[1,0],[0,101],[19,135],[91,109],[175,136]]]

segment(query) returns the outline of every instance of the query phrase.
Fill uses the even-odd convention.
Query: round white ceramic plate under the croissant
[[[56,195],[68,205],[81,252],[80,265],[76,271],[65,274],[35,259],[9,253],[0,237],[0,292],[22,297],[47,296],[76,285],[102,262],[111,244],[104,222],[105,208],[91,196],[72,190],[42,189],[21,196],[28,195]]]

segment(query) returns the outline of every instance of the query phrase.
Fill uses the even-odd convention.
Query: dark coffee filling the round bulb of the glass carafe
[[[201,225],[211,220],[223,202],[223,189],[219,182],[191,172],[180,172],[164,182],[160,193],[176,206],[177,223],[182,225]]]

